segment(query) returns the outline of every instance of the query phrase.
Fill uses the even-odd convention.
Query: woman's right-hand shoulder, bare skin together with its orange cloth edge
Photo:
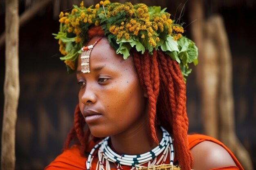
[[[209,170],[219,167],[236,167],[234,155],[217,139],[205,135],[190,135],[189,147],[196,170]]]

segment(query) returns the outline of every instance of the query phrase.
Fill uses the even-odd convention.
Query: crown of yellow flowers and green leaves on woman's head
[[[73,5],[71,13],[60,13],[60,30],[53,34],[59,40],[59,51],[64,55],[60,59],[72,73],[77,57],[82,53],[81,48],[88,41],[88,29],[101,26],[110,45],[124,59],[130,55],[131,48],[142,54],[145,50],[152,54],[154,49],[161,49],[179,63],[185,77],[191,72],[188,64],[198,63],[198,49],[193,41],[182,36],[182,25],[174,23],[165,10],[143,3],[132,5],[131,2],[121,4],[109,0],[88,8],[84,7],[83,1],[80,7]]]

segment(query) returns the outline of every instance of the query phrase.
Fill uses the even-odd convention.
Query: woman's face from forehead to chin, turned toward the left
[[[94,44],[94,37],[88,45]],[[147,126],[146,98],[132,57],[117,55],[106,38],[94,45],[90,54],[90,73],[81,72],[79,107],[92,135],[106,137],[129,133],[136,126]]]

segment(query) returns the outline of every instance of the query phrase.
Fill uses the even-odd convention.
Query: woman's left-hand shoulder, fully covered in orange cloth
[[[81,170],[85,169],[86,158],[80,155],[79,147],[74,145],[58,155],[45,170]]]

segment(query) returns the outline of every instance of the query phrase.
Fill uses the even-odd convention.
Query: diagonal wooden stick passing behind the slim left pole
[[[52,1],[53,0],[38,1],[37,4],[35,4],[33,7],[31,7],[24,13],[22,13],[22,15],[20,15],[20,27],[23,26],[29,20],[31,20],[31,18],[33,18],[36,15],[36,13],[40,11],[40,9],[43,9],[47,4],[49,4],[49,2],[52,2]],[[3,32],[0,37],[0,47],[4,44],[4,40],[5,40],[5,32]]]

